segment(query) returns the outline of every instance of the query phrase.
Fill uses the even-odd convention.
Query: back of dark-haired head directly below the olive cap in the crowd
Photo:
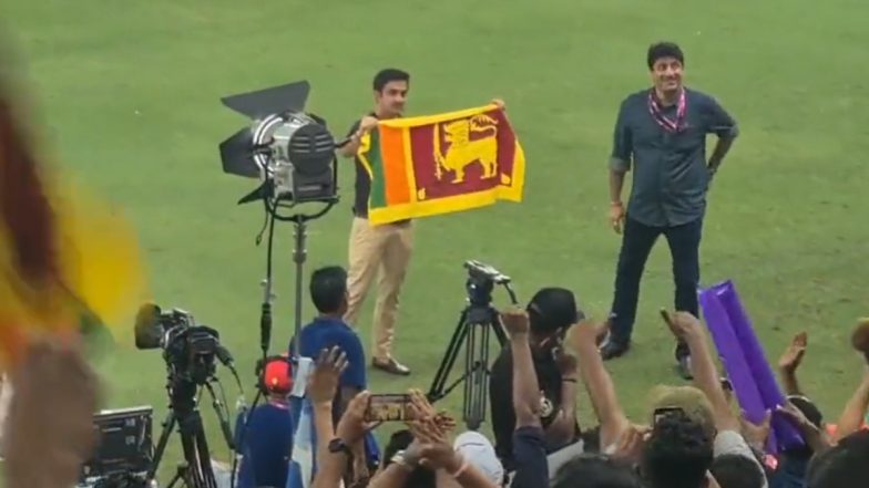
[[[660,416],[643,449],[641,470],[650,488],[704,488],[713,439],[683,412]]]

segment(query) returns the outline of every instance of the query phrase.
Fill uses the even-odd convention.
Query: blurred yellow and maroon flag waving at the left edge
[[[7,365],[40,334],[121,325],[145,298],[132,228],[44,164],[9,83],[0,79],[0,362]]]

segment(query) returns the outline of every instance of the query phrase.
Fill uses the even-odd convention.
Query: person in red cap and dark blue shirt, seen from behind
[[[242,454],[238,488],[283,488],[287,482],[295,432],[287,401],[293,391],[289,362],[286,359],[268,362],[262,383],[266,403],[249,414],[242,412],[236,419],[236,445]]]

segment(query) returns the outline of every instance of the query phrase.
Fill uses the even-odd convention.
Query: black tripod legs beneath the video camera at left
[[[211,384],[205,383],[206,388],[214,399],[215,412],[221,420],[224,436],[228,435],[228,420],[221,412],[217,397]],[[178,465],[175,476],[168,484],[173,488],[178,481],[188,488],[217,488],[217,481],[212,470],[212,459],[208,451],[208,442],[205,438],[205,430],[202,425],[202,416],[194,399],[196,384],[186,378],[173,380],[170,377],[167,385],[170,390],[170,411],[166,419],[163,420],[163,432],[160,435],[156,449],[154,450],[154,461],[147,471],[145,482],[151,482],[156,476],[163,453],[168,444],[170,435],[177,425],[181,436],[181,447],[184,451],[184,463]],[[229,448],[233,448],[232,436],[226,438]]]

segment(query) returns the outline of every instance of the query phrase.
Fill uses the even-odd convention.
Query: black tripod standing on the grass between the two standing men
[[[505,277],[502,277],[505,278]],[[515,294],[510,288],[510,281],[500,280],[504,285],[510,300],[517,304]],[[464,398],[462,402],[462,419],[471,430],[477,430],[485,420],[489,394],[489,344],[491,332],[499,343],[499,350],[507,344],[507,333],[501,326],[498,310],[492,307],[492,289],[494,281],[471,274],[466,283],[468,291],[468,305],[459,315],[456,331],[447,346],[447,353],[438,367],[438,373],[431,383],[428,393],[429,402],[437,402],[449,395],[459,383],[464,382]],[[459,352],[464,346],[464,373],[451,385],[447,385]]]

